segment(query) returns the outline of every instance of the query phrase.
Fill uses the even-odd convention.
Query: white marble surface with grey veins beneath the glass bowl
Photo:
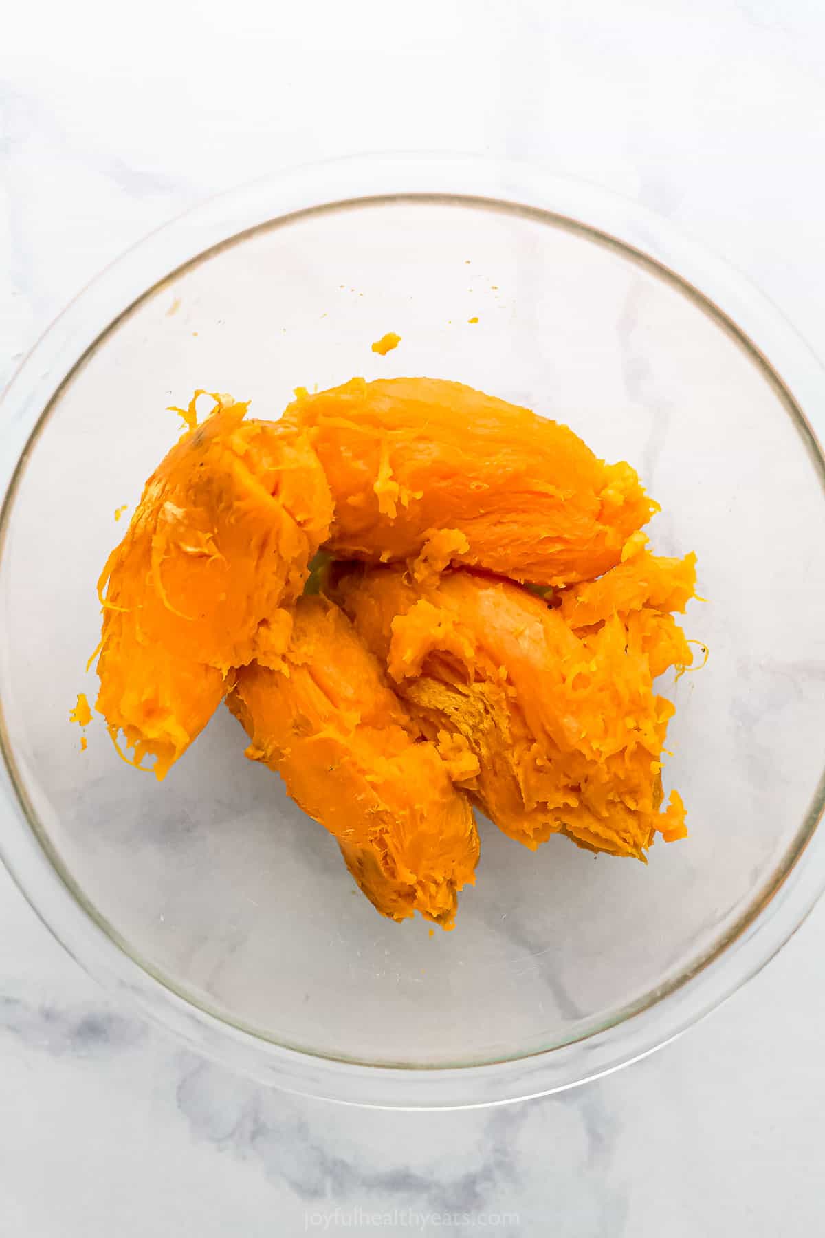
[[[824,47],[819,0],[17,6],[0,43],[0,378],[202,196],[390,147],[526,157],[637,198],[821,344]],[[710,1020],[596,1084],[376,1114],[261,1091],[113,1009],[0,874],[0,1231],[819,1233],[823,950],[825,907]],[[472,1226],[438,1223],[465,1212]]]

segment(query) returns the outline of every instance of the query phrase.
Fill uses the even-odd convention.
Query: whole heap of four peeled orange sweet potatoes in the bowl
[[[471,802],[532,849],[686,833],[653,683],[691,664],[695,557],[646,550],[630,464],[435,379],[301,391],[277,423],[214,399],[99,582],[96,706],[132,764],[162,779],[226,697],[374,906],[444,928]]]

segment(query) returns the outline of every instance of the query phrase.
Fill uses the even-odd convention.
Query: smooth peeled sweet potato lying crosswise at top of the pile
[[[353,379],[301,392],[335,500],[339,558],[416,558],[534,584],[589,581],[656,510],[630,464],[600,461],[566,426],[440,379]]]

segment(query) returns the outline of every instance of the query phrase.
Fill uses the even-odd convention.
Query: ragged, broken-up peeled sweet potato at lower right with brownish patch
[[[657,831],[686,833],[678,792],[660,811],[673,706],[653,678],[691,661],[660,607],[684,605],[693,588],[693,556],[642,552],[555,609],[460,569],[417,581],[402,567],[354,567],[335,597],[424,733],[454,761],[465,751],[464,785],[505,833],[536,848],[563,832],[643,859]]]

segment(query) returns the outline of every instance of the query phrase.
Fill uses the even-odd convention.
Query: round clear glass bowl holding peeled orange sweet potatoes
[[[477,318],[477,322],[474,319]],[[402,343],[370,349],[387,331]],[[667,777],[690,838],[647,867],[481,823],[458,927],[381,920],[226,711],[163,785],[100,724],[95,581],[197,386],[277,416],[302,384],[459,379],[569,422],[695,550]],[[0,847],[68,950],[202,1051],[377,1106],[548,1092],[737,988],[825,877],[825,376],[740,277],[639,208],[474,160],[371,158],[223,196],[101,275],[2,407]],[[804,854],[803,854],[804,853]]]

